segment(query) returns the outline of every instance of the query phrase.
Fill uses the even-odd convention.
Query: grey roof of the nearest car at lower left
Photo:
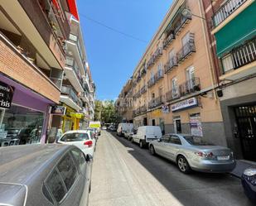
[[[59,160],[71,147],[74,146],[34,144],[1,147],[0,182],[27,185],[29,180],[42,174],[47,165]]]

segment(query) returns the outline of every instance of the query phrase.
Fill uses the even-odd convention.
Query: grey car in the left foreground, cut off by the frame
[[[88,205],[93,159],[76,146],[7,146],[0,153],[1,205]]]

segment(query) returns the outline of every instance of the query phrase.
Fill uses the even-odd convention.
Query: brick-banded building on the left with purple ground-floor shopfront
[[[45,142],[60,100],[68,2],[0,1],[0,146]]]

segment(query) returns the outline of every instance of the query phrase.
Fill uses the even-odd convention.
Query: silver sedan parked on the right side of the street
[[[206,143],[202,137],[188,134],[167,134],[152,141],[149,151],[176,162],[183,173],[191,170],[225,173],[234,170],[236,165],[229,148]]]

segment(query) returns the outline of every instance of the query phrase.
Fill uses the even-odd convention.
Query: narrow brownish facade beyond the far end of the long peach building
[[[128,79],[115,103],[122,122],[133,123],[133,80]]]

